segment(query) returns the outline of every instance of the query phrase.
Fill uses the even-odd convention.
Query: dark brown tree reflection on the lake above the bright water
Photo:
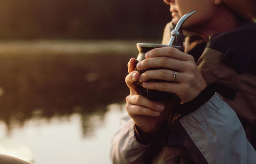
[[[126,65],[134,52],[94,54],[80,48],[72,53],[70,48],[65,51],[65,45],[49,54],[34,44],[31,52],[20,44],[20,48],[8,44],[8,51],[1,49],[0,120],[8,133],[30,119],[79,113],[83,135],[90,136],[90,122],[102,122],[108,104],[123,102],[128,93]],[[97,117],[92,119],[93,114]]]

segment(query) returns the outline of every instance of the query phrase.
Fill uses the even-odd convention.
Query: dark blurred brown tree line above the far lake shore
[[[159,39],[163,0],[1,0],[0,39]]]

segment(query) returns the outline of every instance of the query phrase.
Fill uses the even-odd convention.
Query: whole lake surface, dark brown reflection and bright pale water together
[[[110,164],[136,42],[0,42],[0,153],[35,164]]]

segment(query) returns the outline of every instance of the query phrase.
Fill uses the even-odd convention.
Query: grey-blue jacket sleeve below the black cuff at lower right
[[[178,120],[176,127],[180,127],[183,145],[197,163],[256,164],[256,151],[240,120],[217,93]]]

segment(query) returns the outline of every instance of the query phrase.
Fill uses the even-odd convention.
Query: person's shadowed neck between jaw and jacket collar
[[[246,21],[232,11],[229,6],[221,3],[216,7],[216,14],[211,20],[190,27],[189,31],[208,38],[211,34],[231,31],[244,23],[246,23]]]

